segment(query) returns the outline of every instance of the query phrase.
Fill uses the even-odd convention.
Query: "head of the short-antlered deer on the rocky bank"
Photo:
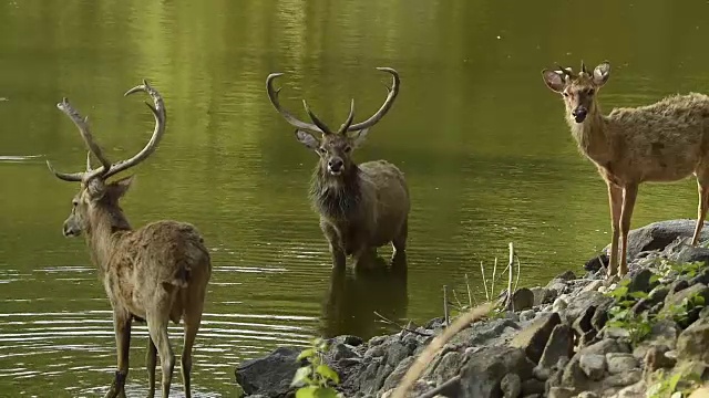
[[[557,71],[542,71],[544,83],[553,92],[562,94],[571,117],[576,123],[583,123],[596,109],[596,94],[610,76],[610,64],[603,62],[593,73],[588,73],[582,61],[577,75],[574,75],[571,67],[556,66]]]

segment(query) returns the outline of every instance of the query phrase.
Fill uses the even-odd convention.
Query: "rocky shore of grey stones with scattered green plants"
[[[408,397],[687,397],[709,374],[709,249],[689,245],[693,228],[672,220],[631,231],[620,281],[604,280],[602,254],[582,276],[567,271],[546,286],[518,289],[515,311],[448,342]],[[387,397],[442,329],[435,318],[368,342],[338,336],[325,360],[346,397]],[[292,396],[300,350],[248,360],[236,380],[247,397]]]

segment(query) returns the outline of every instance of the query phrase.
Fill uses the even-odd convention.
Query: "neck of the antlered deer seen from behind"
[[[105,273],[109,259],[131,224],[117,206],[99,205],[90,212],[86,242],[94,264]]]

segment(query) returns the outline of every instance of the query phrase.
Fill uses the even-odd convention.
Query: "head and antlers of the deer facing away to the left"
[[[63,98],[61,103],[56,104],[56,107],[63,112],[79,128],[79,134],[83,138],[84,143],[89,147],[86,155],[86,170],[80,172],[61,172],[56,171],[52,164],[47,160],[47,166],[50,171],[56,176],[56,178],[63,181],[80,182],[81,187],[79,192],[72,200],[72,209],[69,218],[64,221],[63,233],[65,237],[78,237],[82,232],[91,232],[91,219],[95,216],[96,211],[103,211],[104,214],[110,217],[112,228],[127,229],[127,221],[123,217],[121,208],[119,207],[119,199],[127,191],[131,186],[133,176],[125,177],[123,179],[107,182],[111,176],[117,172],[127,170],[129,168],[136,166],[141,161],[145,160],[157,147],[157,144],[165,133],[165,105],[160,93],[151,87],[146,81],[143,81],[142,85],[135,86],[129,90],[124,95],[131,95],[136,92],[147,93],[155,104],[155,106],[146,103],[147,107],[155,117],[155,129],[147,145],[137,153],[135,156],[127,160],[120,160],[115,164],[109,161],[103,154],[101,147],[95,143],[93,135],[89,128],[89,118],[81,117],[69,100]],[[91,155],[95,156],[101,166],[92,169]]]

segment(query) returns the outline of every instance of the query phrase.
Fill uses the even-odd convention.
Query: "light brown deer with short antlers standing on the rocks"
[[[709,207],[709,96],[671,95],[651,105],[615,108],[604,115],[597,96],[608,82],[610,64],[603,62],[589,73],[582,62],[578,74],[571,67],[557,67],[542,71],[544,83],[562,94],[566,123],[579,150],[596,165],[608,186],[613,228],[608,276],[628,272],[628,231],[640,182],[676,181],[691,174],[697,177],[699,210],[691,239],[696,245]]]

